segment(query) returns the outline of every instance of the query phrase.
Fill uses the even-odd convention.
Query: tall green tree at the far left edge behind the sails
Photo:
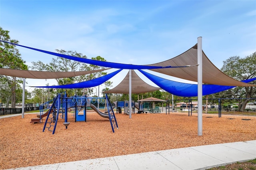
[[[9,36],[9,31],[3,30],[1,27],[0,40],[18,44],[18,40],[11,40]],[[19,50],[16,48],[16,46],[4,42],[0,42],[0,67],[9,69],[28,69],[25,61],[22,60],[22,58],[20,57]],[[0,81],[7,83],[4,86],[5,88],[11,89],[11,107],[15,108],[16,89],[18,86],[20,86],[19,83],[22,83],[22,78],[1,75]],[[4,90],[6,92],[8,91],[8,89],[3,89],[3,87],[0,88],[1,90]],[[6,106],[7,104],[9,105],[9,103],[6,103]]]

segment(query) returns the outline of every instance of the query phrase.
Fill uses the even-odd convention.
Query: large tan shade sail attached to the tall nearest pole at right
[[[152,66],[181,66],[181,65],[196,65],[197,64],[197,44],[188,51],[174,57],[172,59],[162,61],[160,63],[150,64]],[[151,69],[158,73],[163,73],[173,77],[186,79],[197,82],[197,67],[179,67],[166,69]],[[235,80],[222,71],[220,71],[202,52],[202,82],[213,85],[226,86],[255,86],[248,83],[243,83]]]

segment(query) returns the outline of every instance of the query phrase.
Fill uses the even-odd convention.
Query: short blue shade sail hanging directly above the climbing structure
[[[41,88],[56,88],[56,89],[79,89],[79,88],[89,88],[89,87],[95,87],[98,85],[101,85],[102,83],[108,81],[110,78],[112,78],[114,75],[122,71],[122,69],[119,69],[117,71],[114,71],[113,73],[104,75],[102,77],[83,81],[80,83],[74,83],[69,85],[56,85],[56,86],[31,86],[31,87],[41,87]]]

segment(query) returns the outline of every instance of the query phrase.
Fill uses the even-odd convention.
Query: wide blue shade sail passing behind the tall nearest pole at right
[[[177,81],[172,81],[168,79],[164,79],[158,77],[156,75],[152,75],[145,71],[139,70],[143,75],[145,75],[148,79],[158,85],[160,88],[165,91],[181,97],[194,97],[197,96],[197,85],[189,84],[189,83],[180,83]],[[253,79],[243,80],[244,83],[249,83],[251,81],[256,80],[256,77]],[[246,86],[246,84],[245,84]],[[220,91],[232,89],[236,86],[224,86],[224,85],[203,85],[203,95],[210,95],[213,93],[218,93]]]

